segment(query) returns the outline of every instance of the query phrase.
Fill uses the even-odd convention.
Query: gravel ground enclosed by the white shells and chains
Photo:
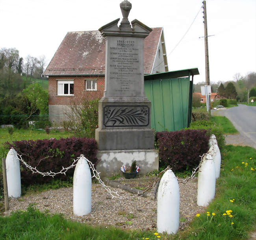
[[[197,206],[197,180],[179,183],[180,187],[180,229],[184,229],[196,213],[204,211]],[[22,196],[9,202],[11,211],[26,210],[29,205],[35,205],[40,211],[61,213],[65,218],[87,224],[112,225],[126,229],[156,229],[157,202],[144,197],[109,187],[111,191],[126,198],[111,198],[111,195],[100,184],[92,185],[92,211],[78,217],[73,214],[73,189],[61,188],[38,194]]]

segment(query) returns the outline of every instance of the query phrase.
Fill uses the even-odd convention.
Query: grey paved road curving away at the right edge
[[[237,107],[215,110],[214,115],[227,117],[240,132],[245,145],[256,148],[256,107],[238,104]],[[235,137],[235,136],[234,136]]]

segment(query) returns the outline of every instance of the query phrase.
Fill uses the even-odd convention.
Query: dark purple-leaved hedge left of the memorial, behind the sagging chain
[[[89,159],[95,167],[98,163],[96,158],[97,143],[95,139],[88,138],[61,138],[44,139],[44,140],[22,140],[14,141],[13,144],[6,143],[9,148],[13,147],[22,159],[32,167],[36,167],[40,172],[59,172],[62,167],[69,167],[73,159],[78,158],[81,154]],[[24,185],[31,183],[46,183],[52,180],[52,177],[32,174],[32,171],[21,163],[21,181]],[[69,169],[64,174],[56,175],[57,179],[67,180],[69,176],[73,176],[74,168]]]

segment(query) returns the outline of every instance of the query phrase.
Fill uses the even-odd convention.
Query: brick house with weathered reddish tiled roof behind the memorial
[[[105,38],[99,31],[68,32],[44,76],[48,77],[49,120],[61,124],[63,111],[85,94],[102,96],[105,85]],[[144,74],[168,71],[163,28],[152,28],[144,42]]]

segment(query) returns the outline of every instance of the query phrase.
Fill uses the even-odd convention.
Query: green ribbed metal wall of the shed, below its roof
[[[145,95],[151,101],[151,127],[157,132],[187,127],[189,77],[145,81]]]

